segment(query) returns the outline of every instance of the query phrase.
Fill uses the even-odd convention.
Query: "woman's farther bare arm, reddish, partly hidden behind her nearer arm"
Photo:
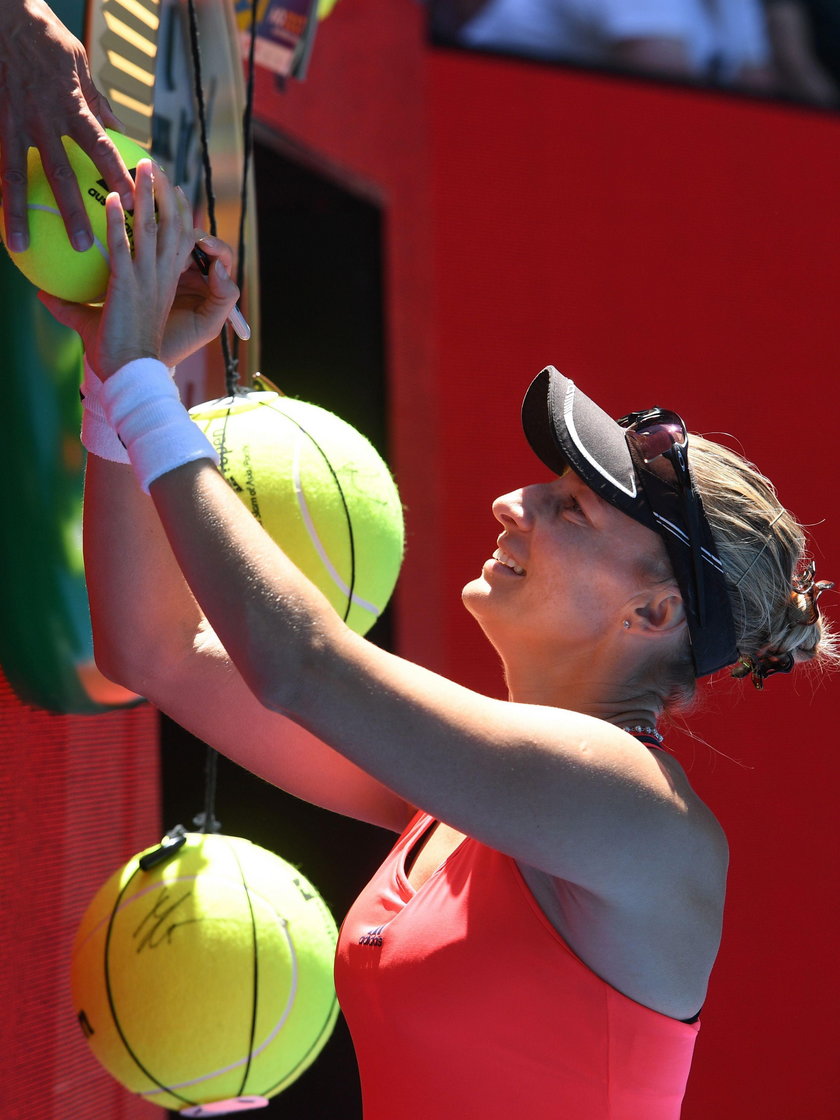
[[[85,571],[96,661],[193,735],[289,793],[393,831],[411,808],[270,711],[195,601],[155,507],[131,472],[88,456]]]

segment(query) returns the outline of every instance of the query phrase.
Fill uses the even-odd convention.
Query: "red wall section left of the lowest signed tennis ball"
[[[91,1055],[69,990],[73,941],[102,884],[161,834],[148,704],[58,716],[0,675],[0,1114],[160,1120]]]

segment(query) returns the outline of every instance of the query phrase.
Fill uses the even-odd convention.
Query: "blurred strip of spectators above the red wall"
[[[429,0],[432,43],[840,108],[837,0]]]

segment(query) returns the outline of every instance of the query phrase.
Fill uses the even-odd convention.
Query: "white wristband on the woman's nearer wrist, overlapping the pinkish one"
[[[128,362],[104,383],[101,402],[147,494],[156,478],[185,463],[212,459],[218,465],[217,451],[189,419],[162,362]]]

